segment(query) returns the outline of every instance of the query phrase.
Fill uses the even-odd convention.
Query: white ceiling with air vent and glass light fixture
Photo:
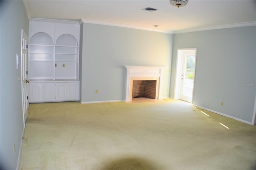
[[[256,25],[256,0],[189,0],[179,9],[171,6],[169,0],[28,0],[26,3],[32,18],[82,19],[170,33]],[[142,10],[146,7],[158,10]]]

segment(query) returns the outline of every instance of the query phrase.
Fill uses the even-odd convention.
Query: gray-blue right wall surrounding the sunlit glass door
[[[174,35],[170,97],[174,95],[178,48],[197,48],[193,104],[251,123],[256,26]]]

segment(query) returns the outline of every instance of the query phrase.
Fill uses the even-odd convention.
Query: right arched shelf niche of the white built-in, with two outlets
[[[78,52],[76,38],[63,34],[55,45],[55,79],[78,79]]]

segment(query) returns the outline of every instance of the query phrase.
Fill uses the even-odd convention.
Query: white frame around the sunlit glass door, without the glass
[[[188,51],[188,50],[195,50],[195,71],[194,71],[195,73],[194,73],[194,75],[196,75],[197,48],[178,48],[177,49],[177,56],[176,56],[176,74],[175,74],[175,84],[174,84],[174,99],[180,99],[182,56],[183,56],[183,51]],[[195,76],[194,76],[194,83],[193,83],[193,89],[192,89],[191,103],[193,103],[194,84],[195,84]]]

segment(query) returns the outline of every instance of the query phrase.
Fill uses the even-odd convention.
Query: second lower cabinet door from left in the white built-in
[[[54,101],[54,83],[42,83],[43,101]]]

